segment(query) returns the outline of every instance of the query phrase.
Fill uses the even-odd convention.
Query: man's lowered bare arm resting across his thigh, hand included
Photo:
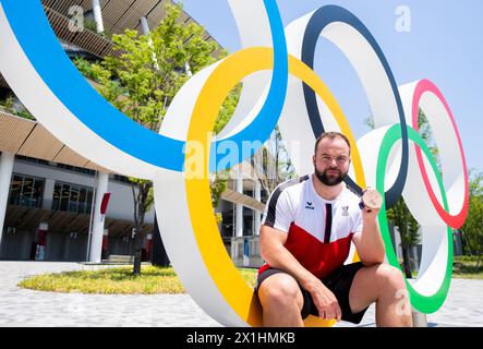
[[[288,233],[283,231],[263,226],[259,232],[263,260],[271,267],[293,276],[311,293],[319,317],[340,321],[342,313],[336,297],[283,246],[287,237]]]

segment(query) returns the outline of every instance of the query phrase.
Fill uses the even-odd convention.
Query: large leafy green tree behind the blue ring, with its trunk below
[[[100,62],[76,59],[74,63],[95,81],[98,92],[125,116],[143,127],[158,132],[171,100],[190,79],[217,59],[214,41],[203,38],[204,28],[196,23],[180,21],[182,7],[167,4],[166,17],[148,35],[126,29],[113,35],[120,58],[106,57]],[[188,71],[186,67],[191,72]],[[222,121],[227,121],[224,116]],[[217,125],[221,128],[220,125]],[[153,205],[153,182],[130,178],[134,200],[134,267],[141,274],[144,218]],[[220,185],[215,185],[215,191]],[[221,185],[222,188],[222,185]]]

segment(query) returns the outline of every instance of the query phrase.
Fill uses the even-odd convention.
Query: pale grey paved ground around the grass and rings
[[[16,286],[29,275],[92,268],[76,263],[0,262],[0,326],[220,326],[188,294],[53,293]],[[371,306],[360,326],[374,323]],[[446,303],[427,315],[427,323],[430,327],[483,326],[483,280],[454,279]]]

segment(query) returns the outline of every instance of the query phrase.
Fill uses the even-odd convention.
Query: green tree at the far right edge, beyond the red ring
[[[470,173],[470,202],[468,217],[461,231],[464,237],[466,248],[471,255],[476,256],[478,270],[483,252],[483,172],[471,170]]]

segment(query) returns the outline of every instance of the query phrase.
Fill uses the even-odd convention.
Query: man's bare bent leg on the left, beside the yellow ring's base
[[[303,296],[295,279],[288,274],[275,274],[258,288],[265,327],[302,327],[300,312]]]

